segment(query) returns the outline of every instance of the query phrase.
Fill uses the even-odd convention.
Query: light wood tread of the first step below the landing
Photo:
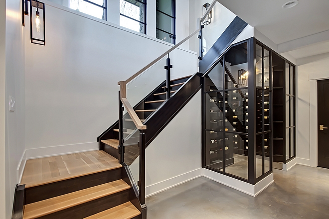
[[[108,191],[107,193],[104,193],[104,190],[102,191],[96,191],[96,192],[93,192],[93,193],[90,193],[90,194],[87,194],[89,196],[92,196],[94,194],[94,196],[90,197],[90,198],[86,198],[87,195],[83,195],[83,196],[80,196],[80,197],[77,197],[77,198],[73,198],[73,199],[68,199],[68,200],[65,200],[65,201],[69,201],[69,200],[75,200],[75,199],[79,199],[81,197],[85,197],[84,200],[76,200],[75,202],[72,201],[72,203],[69,203],[68,205],[65,205],[65,206],[57,206],[57,207],[54,207],[53,209],[51,209],[50,211],[44,211],[44,212],[41,212],[39,214],[34,214],[32,216],[29,216],[29,217],[24,217],[26,216],[25,214],[25,211],[26,211],[26,207],[28,208],[29,206],[35,206],[35,205],[38,205],[40,203],[47,203],[47,202],[50,202],[51,204],[51,201],[56,201],[56,199],[65,199],[66,196],[69,196],[69,195],[72,195],[72,194],[79,194],[79,193],[82,193],[82,192],[86,192],[88,190],[91,190],[92,188],[95,189],[96,187],[105,187],[106,184],[113,184],[114,182],[119,182],[121,181],[121,186],[125,186],[123,188],[120,188],[116,191]],[[113,186],[114,187],[114,186]],[[28,205],[25,205],[25,208],[24,208],[24,214],[23,214],[23,219],[33,219],[33,218],[39,218],[39,217],[42,217],[42,216],[46,216],[46,215],[50,215],[52,213],[55,213],[55,212],[59,212],[59,211],[62,211],[62,210],[65,210],[65,209],[68,209],[68,208],[71,208],[71,207],[74,207],[74,206],[78,206],[78,205],[81,205],[81,204],[84,204],[84,203],[87,203],[87,202],[90,202],[90,201],[94,201],[96,199],[100,199],[100,198],[103,198],[103,197],[106,197],[106,196],[110,196],[112,194],[115,194],[115,193],[119,193],[119,192],[122,192],[124,190],[127,190],[127,189],[130,189],[131,187],[125,183],[125,181],[123,181],[122,179],[120,180],[116,180],[116,181],[113,181],[113,182],[109,182],[109,183],[105,183],[105,184],[101,184],[101,185],[98,185],[98,186],[94,186],[94,187],[90,187],[90,188],[87,188],[87,189],[83,189],[83,190],[79,190],[79,191],[76,191],[76,192],[72,192],[72,193],[68,193],[68,194],[65,194],[65,195],[61,195],[61,196],[56,196],[56,197],[53,197],[53,198],[50,198],[50,199],[46,199],[46,200],[42,200],[42,201],[39,201],[39,202],[35,202],[35,203],[31,203],[31,204],[28,204]],[[109,188],[108,188],[109,189]],[[64,201],[64,202],[65,202]],[[64,203],[64,202],[60,202],[60,203]],[[58,205],[57,202],[54,202]],[[44,206],[42,207],[41,209],[49,209],[49,206]],[[37,210],[34,210],[34,211],[37,211]]]

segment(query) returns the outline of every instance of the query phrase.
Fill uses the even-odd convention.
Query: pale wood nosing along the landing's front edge
[[[111,156],[111,155],[109,155],[109,156]],[[90,174],[94,174],[94,173],[100,173],[100,172],[104,172],[104,171],[108,171],[108,170],[114,170],[114,169],[121,168],[121,167],[122,167],[122,165],[120,163],[118,163],[115,166],[101,167],[101,168],[93,169],[92,172],[82,172],[82,173],[80,172],[80,173],[76,173],[76,174],[69,174],[65,178],[63,178],[62,176],[59,176],[59,177],[54,177],[51,179],[40,180],[38,182],[26,183],[25,189],[36,187],[36,186],[42,186],[42,185],[49,184],[49,183],[56,183],[56,182],[60,182],[60,181],[64,181],[64,180],[69,180],[69,179],[86,176],[86,175],[90,175]]]

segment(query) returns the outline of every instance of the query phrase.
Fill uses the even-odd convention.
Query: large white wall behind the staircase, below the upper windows
[[[96,149],[99,134],[118,119],[117,82],[171,46],[45,2],[46,46],[29,43],[26,34],[26,149],[33,151],[27,157],[50,155],[41,148],[51,154]],[[174,68],[195,73],[196,54],[176,53],[190,59]],[[186,71],[175,77],[182,75]]]

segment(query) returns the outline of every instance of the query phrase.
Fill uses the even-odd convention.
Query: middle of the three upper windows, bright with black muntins
[[[120,0],[120,26],[146,34],[146,0]]]

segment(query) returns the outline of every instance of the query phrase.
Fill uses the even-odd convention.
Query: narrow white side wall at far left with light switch
[[[25,27],[28,28],[28,27]],[[17,167],[25,150],[25,41],[21,24],[21,1],[6,0],[6,218],[11,216]],[[9,95],[15,98],[15,111],[9,112]]]

